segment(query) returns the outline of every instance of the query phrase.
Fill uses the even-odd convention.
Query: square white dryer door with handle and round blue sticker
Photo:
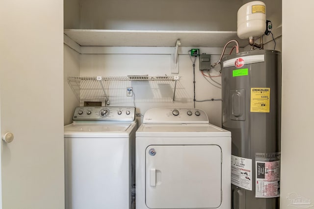
[[[146,148],[146,205],[151,209],[209,209],[221,204],[218,145]]]

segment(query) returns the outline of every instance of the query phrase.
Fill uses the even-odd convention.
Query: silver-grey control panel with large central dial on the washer
[[[77,107],[73,121],[133,121],[135,107]]]

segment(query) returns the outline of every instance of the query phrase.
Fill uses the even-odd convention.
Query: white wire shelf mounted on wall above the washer
[[[175,81],[180,80],[181,76],[148,76],[148,75],[128,75],[128,76],[91,76],[91,77],[68,77],[69,82],[79,81]]]

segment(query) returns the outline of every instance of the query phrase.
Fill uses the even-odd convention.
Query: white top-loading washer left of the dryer
[[[77,107],[64,126],[66,209],[132,209],[135,108]]]

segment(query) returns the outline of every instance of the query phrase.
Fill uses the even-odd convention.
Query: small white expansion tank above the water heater
[[[237,36],[248,39],[264,34],[266,30],[266,6],[262,1],[251,1],[237,11]]]

